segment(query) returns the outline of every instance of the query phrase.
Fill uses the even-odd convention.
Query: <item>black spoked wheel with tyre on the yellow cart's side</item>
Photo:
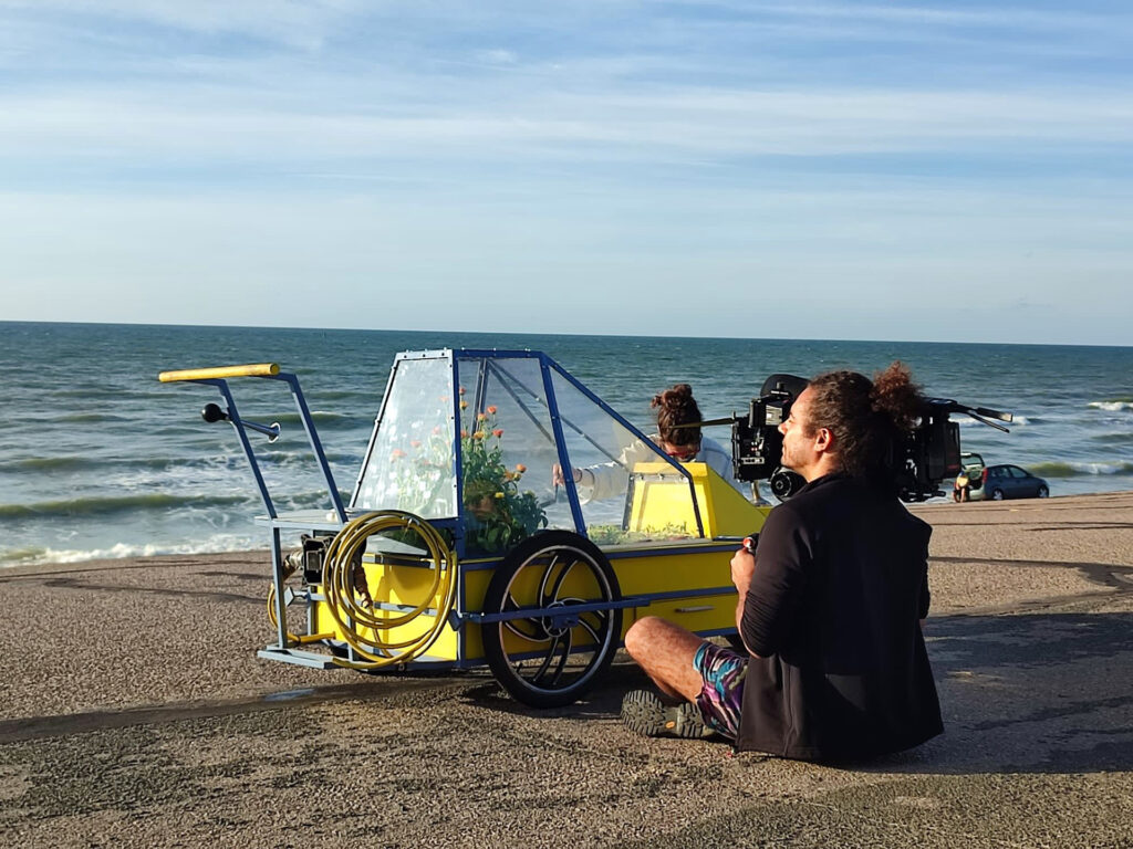
[[[613,661],[622,611],[606,608],[576,614],[571,608],[620,598],[608,560],[586,538],[570,531],[544,531],[523,540],[492,576],[484,612],[555,612],[483,625],[484,654],[492,674],[512,696],[533,707],[574,702]]]

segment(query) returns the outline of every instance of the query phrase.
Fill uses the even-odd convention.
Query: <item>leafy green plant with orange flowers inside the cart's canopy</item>
[[[527,469],[508,469],[500,447],[503,430],[496,427],[495,408],[476,418],[476,430],[461,431],[463,464],[465,543],[469,550],[505,551],[546,528],[547,514],[535,494],[520,491]]]

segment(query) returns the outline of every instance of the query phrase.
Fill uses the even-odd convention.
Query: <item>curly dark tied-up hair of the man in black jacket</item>
[[[842,468],[875,483],[895,486],[897,451],[925,410],[925,398],[900,360],[870,380],[857,371],[829,371],[810,381],[810,428],[834,435]]]

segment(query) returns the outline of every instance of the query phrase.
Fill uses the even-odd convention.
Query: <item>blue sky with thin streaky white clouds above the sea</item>
[[[0,320],[1133,344],[1125,2],[0,0]]]

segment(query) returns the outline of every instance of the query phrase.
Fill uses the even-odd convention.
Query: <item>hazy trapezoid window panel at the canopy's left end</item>
[[[457,515],[452,360],[399,360],[353,507]]]

